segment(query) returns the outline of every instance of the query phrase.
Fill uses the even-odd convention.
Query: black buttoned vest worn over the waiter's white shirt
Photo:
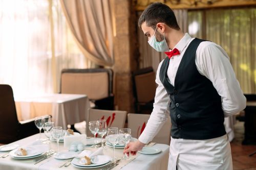
[[[196,51],[202,41],[196,38],[188,45],[177,70],[175,86],[168,82],[168,57],[160,68],[159,77],[171,101],[173,138],[202,140],[226,134],[221,96],[196,67]]]

